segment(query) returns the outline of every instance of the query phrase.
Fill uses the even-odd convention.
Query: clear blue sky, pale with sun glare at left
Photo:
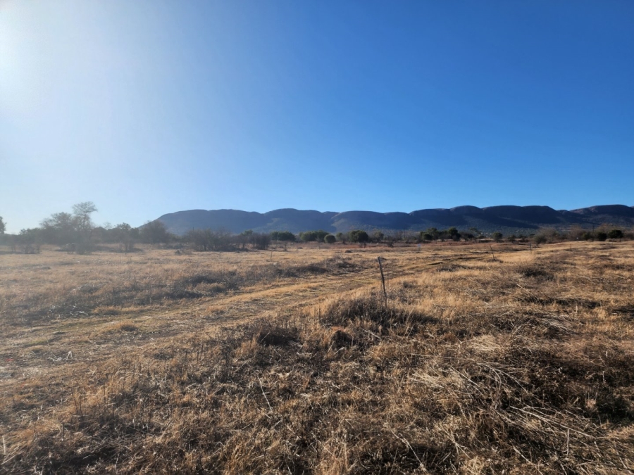
[[[0,215],[634,205],[634,1],[0,0]]]

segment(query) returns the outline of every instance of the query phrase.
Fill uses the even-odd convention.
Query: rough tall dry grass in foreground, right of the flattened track
[[[0,467],[630,473],[634,247],[501,260],[431,256],[390,281],[387,303],[377,287],[349,291],[141,346],[66,374],[72,390],[51,387],[48,411],[16,388]]]

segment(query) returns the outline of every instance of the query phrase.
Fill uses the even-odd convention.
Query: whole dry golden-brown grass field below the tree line
[[[633,473],[634,243],[493,251],[1,253],[0,471]]]

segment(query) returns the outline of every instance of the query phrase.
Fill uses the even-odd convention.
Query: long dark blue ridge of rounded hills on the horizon
[[[240,210],[188,210],[169,213],[158,218],[168,231],[182,235],[189,229],[227,229],[240,233],[290,231],[294,233],[323,229],[348,232],[352,229],[371,231],[418,232],[428,227],[438,229],[476,227],[481,232],[500,231],[504,234],[530,234],[540,227],[566,229],[571,226],[592,228],[603,223],[621,227],[634,226],[634,207],[603,205],[578,210],[554,210],[549,206],[458,206],[451,209],[418,210],[411,213],[375,213],[344,211],[324,213],[292,208],[254,213]]]

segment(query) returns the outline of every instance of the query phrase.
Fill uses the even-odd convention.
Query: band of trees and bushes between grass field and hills
[[[224,229],[191,229],[184,236],[170,234],[165,225],[160,221],[152,221],[140,227],[132,227],[128,223],[120,223],[115,226],[106,224],[97,226],[92,221],[92,213],[97,207],[92,201],[85,201],[73,205],[72,213],[54,213],[42,220],[37,228],[22,229],[15,236],[5,235],[6,224],[0,216],[0,237],[4,243],[13,248],[13,251],[23,253],[38,253],[42,244],[54,244],[60,246],[63,251],[74,253],[88,253],[99,244],[118,244],[118,249],[123,252],[135,251],[136,243],[172,243],[175,246],[189,247],[196,251],[240,251],[247,248],[265,250],[271,243],[286,245],[293,242],[316,243],[385,243],[394,246],[396,242],[425,243],[433,241],[478,241],[491,239],[495,242],[531,241],[535,245],[547,242],[566,240],[592,240],[606,241],[607,239],[634,239],[634,229],[624,230],[602,224],[597,229],[583,229],[572,227],[566,232],[554,228],[540,229],[535,234],[509,234],[505,236],[501,232],[492,232],[485,235],[478,228],[459,230],[456,227],[437,229],[429,227],[420,232],[398,231],[385,234],[375,230],[368,234],[363,229],[354,229],[350,232],[337,232],[332,234],[323,229],[300,232],[294,234],[290,231],[273,231],[270,233],[254,232],[249,229],[240,234],[232,234]]]

